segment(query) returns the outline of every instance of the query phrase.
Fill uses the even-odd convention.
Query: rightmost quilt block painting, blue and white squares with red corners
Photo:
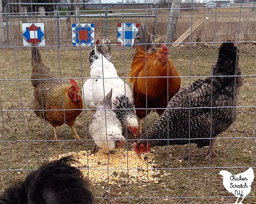
[[[140,24],[119,23],[117,24],[117,44],[131,47],[134,44]]]

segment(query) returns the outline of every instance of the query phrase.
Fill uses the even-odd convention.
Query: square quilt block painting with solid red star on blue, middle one
[[[94,24],[72,24],[72,45],[92,46],[94,43]]]

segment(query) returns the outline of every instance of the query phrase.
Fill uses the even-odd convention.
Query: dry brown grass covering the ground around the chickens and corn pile
[[[214,59],[217,56],[217,46],[214,47]],[[243,75],[255,75],[256,73],[256,47],[255,45],[240,44],[239,64],[242,68]],[[213,49],[208,46],[193,46],[191,49],[191,72],[193,75],[209,75],[213,58]],[[17,79],[17,69],[19,79],[29,79],[31,76],[31,54],[29,49],[15,49],[17,59],[17,69],[15,66],[15,56],[13,49],[2,49],[0,51],[0,64],[2,67],[1,79]],[[119,76],[123,76],[124,72],[127,76],[130,72],[130,64],[132,60],[132,49],[113,50],[113,64],[117,68]],[[52,73],[59,76],[59,66],[62,77],[86,77],[89,76],[88,50],[83,48],[82,58],[80,58],[79,49],[60,49],[59,62],[57,50],[44,49],[42,52],[43,61],[50,67]],[[170,48],[171,59],[181,76],[189,75],[190,50],[188,46],[180,46],[178,48]],[[123,61],[124,59],[124,61]],[[82,72],[80,66],[82,61]],[[191,78],[193,82],[196,80]],[[83,80],[84,81],[84,80]],[[80,87],[82,80],[77,80]],[[189,78],[182,78],[182,87],[189,84]],[[19,93],[20,86],[20,93]],[[245,84],[241,88],[239,97],[239,106],[255,106],[256,102],[256,78],[245,77]],[[54,135],[53,128],[40,118],[37,118],[31,109],[31,101],[33,98],[33,88],[30,80],[0,81],[0,99],[2,104],[0,138],[10,142],[0,142],[0,169],[15,169],[15,171],[0,171],[0,188],[8,187],[12,182],[22,180],[27,175],[26,169],[36,169],[48,157],[67,153],[67,151],[87,151],[93,146],[91,139],[87,135],[87,127],[90,111],[83,111],[77,118],[75,127],[78,134],[85,140],[83,141],[54,141],[51,140]],[[20,98],[21,97],[21,98]],[[23,111],[21,109],[20,99],[22,99]],[[185,204],[221,204],[234,202],[234,199],[228,199],[230,196],[228,191],[224,189],[222,179],[218,175],[221,169],[225,167],[245,167],[233,168],[233,173],[239,173],[247,169],[248,166],[254,166],[252,152],[254,151],[254,120],[255,108],[241,107],[238,109],[238,118],[233,128],[224,131],[218,137],[227,137],[228,139],[218,139],[216,144],[217,157],[212,157],[211,161],[204,158],[192,159],[189,162],[169,161],[168,155],[177,156],[187,152],[188,145],[156,147],[156,151],[152,151],[155,156],[156,166],[158,168],[167,168],[170,175],[164,176],[159,184],[151,183],[148,188],[138,188],[143,185],[127,184],[119,182],[117,185],[108,186],[106,183],[93,183],[93,193],[98,203],[115,204],[127,203],[147,203],[147,197],[157,197],[159,199],[150,199],[150,203],[166,203],[162,197],[174,197],[169,199],[170,203]],[[2,117],[4,120],[2,120]],[[148,116],[148,126],[157,118],[156,113],[150,113]],[[3,123],[4,122],[4,123]],[[3,128],[4,124],[4,128]],[[62,126],[58,128],[58,134],[62,139],[71,139],[73,134],[70,127]],[[234,139],[229,139],[234,137]],[[250,138],[239,138],[250,137]],[[128,138],[132,135],[128,133]],[[17,142],[17,140],[22,140]],[[37,141],[40,140],[40,141]],[[131,150],[132,141],[128,143],[128,149]],[[194,148],[194,145],[191,145]],[[206,149],[202,149],[205,151]],[[158,156],[157,156],[158,155]],[[209,168],[211,167],[211,168]],[[187,169],[190,168],[190,169]],[[162,169],[162,170],[163,170]],[[162,171],[161,170],[161,171]],[[161,188],[161,183],[167,188]],[[121,186],[118,187],[118,185]],[[102,189],[104,186],[104,190]],[[110,193],[106,193],[108,190]],[[167,190],[169,188],[169,191]],[[252,186],[252,195],[255,196],[256,186]],[[121,195],[118,195],[122,192]],[[129,194],[126,194],[128,192]],[[215,198],[191,198],[187,197],[215,197]],[[111,199],[111,198],[117,199]],[[124,199],[123,197],[131,197]],[[177,198],[182,197],[182,198]],[[246,198],[245,203],[250,202],[250,198]],[[252,198],[252,203],[256,202],[256,198]]]

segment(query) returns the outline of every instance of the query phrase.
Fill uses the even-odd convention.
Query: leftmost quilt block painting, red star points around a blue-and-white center
[[[24,23],[22,24],[23,46],[45,46],[45,24]]]

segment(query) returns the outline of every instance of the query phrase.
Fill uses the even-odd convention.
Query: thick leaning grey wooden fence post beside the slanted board
[[[167,25],[167,34],[165,39],[165,42],[167,43],[174,42],[176,25],[177,25],[178,17],[180,14],[181,2],[182,0],[174,0],[172,2],[171,10],[169,13],[168,25]]]

